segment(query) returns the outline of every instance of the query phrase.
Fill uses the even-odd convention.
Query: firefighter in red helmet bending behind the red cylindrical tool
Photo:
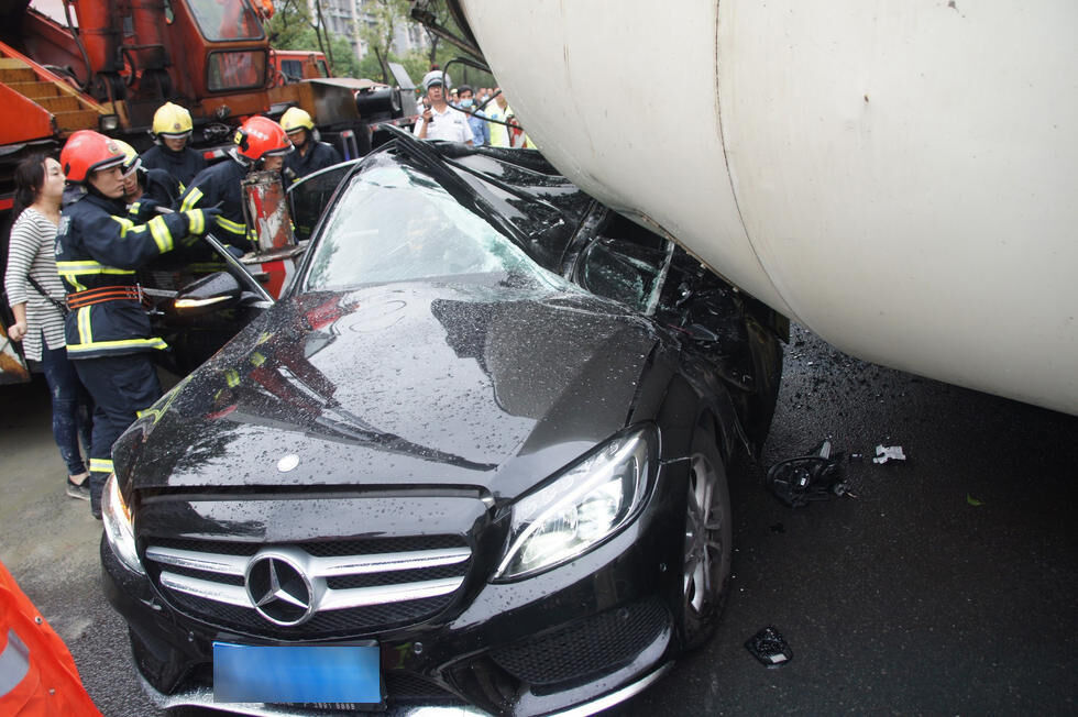
[[[284,129],[267,117],[249,118],[235,131],[233,141],[230,158],[200,172],[180,197],[179,208],[189,211],[199,206],[220,206],[217,229],[221,231],[216,235],[242,255],[255,247],[257,238],[243,217],[240,183],[250,172],[280,172],[284,155],[293,147]]]

